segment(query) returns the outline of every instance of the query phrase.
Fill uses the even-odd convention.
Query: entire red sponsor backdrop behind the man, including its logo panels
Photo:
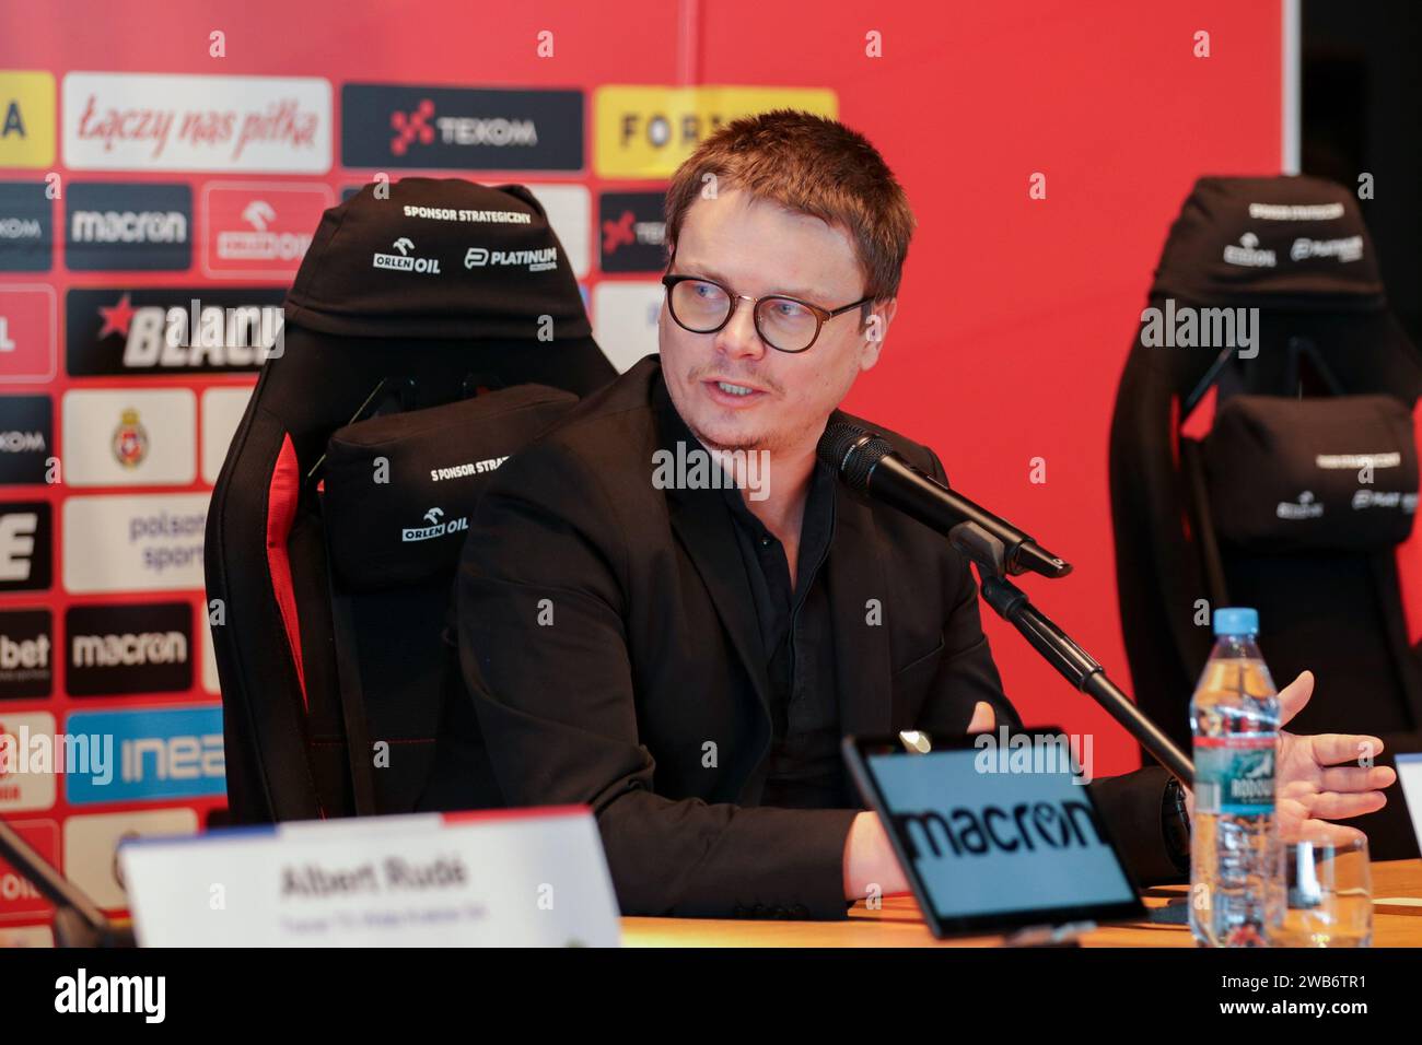
[[[919,218],[884,360],[849,405],[1072,556],[1039,601],[1125,680],[1115,381],[1192,181],[1280,166],[1280,38],[1278,4],[1223,0],[6,7],[0,727],[31,752],[71,735],[90,772],[36,755],[0,776],[0,815],[112,909],[118,839],[220,819],[206,505],[324,208],[377,175],[529,185],[626,368],[656,348],[667,176],[778,105],[865,131]],[[1098,773],[1135,763],[988,627],[1030,721],[1102,732]],[[46,916],[0,867],[0,936],[43,941]]]

